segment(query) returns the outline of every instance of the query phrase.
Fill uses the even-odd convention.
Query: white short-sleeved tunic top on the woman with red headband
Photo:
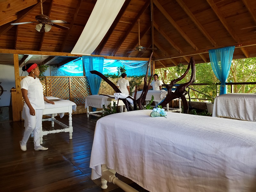
[[[37,77],[26,76],[21,80],[20,88],[28,90],[28,99],[34,109],[44,109],[43,85]],[[28,108],[28,105],[24,103],[24,107]]]

